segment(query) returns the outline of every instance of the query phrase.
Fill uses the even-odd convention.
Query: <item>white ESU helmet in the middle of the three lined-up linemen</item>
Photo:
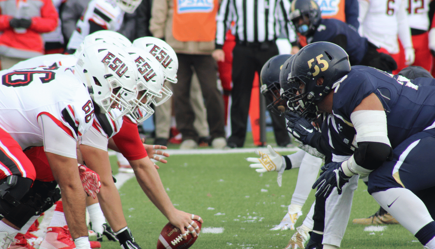
[[[124,48],[136,62],[138,71],[137,99],[133,99],[131,116],[137,123],[149,118],[154,110],[151,103],[155,105],[155,97],[161,98],[161,89],[164,83],[163,70],[160,63],[150,53],[135,47]]]

